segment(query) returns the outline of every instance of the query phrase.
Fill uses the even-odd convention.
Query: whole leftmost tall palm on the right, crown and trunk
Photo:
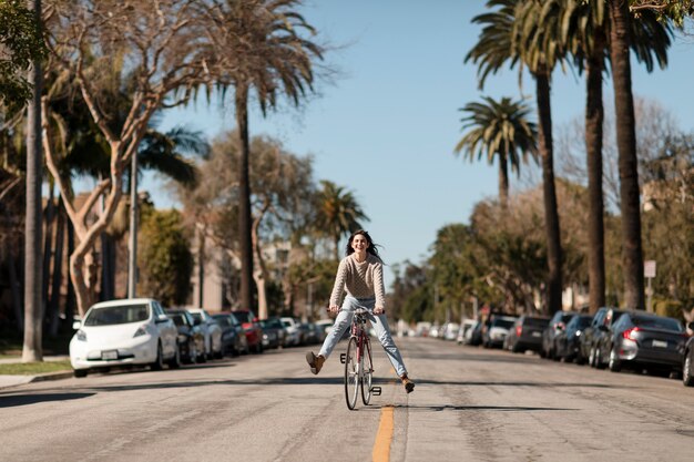
[[[538,105],[538,152],[542,164],[544,223],[548,247],[547,306],[550,312],[561,309],[562,251],[554,185],[554,154],[550,81],[552,70],[563,58],[564,50],[553,40],[558,34],[558,16],[545,11],[539,0],[489,0],[489,13],[477,16],[472,22],[483,24],[478,42],[466,57],[478,64],[480,86],[489,73],[507,63],[522,63],[535,81]],[[542,24],[542,27],[540,27]],[[521,69],[522,69],[521,66]]]

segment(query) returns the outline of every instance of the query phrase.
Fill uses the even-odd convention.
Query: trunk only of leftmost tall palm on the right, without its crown
[[[550,314],[560,310],[561,307],[561,240],[559,228],[559,211],[557,206],[557,189],[554,185],[554,153],[552,142],[552,113],[550,104],[549,75],[538,73],[535,75],[538,97],[538,147],[542,158],[542,191],[544,199],[544,226],[547,233],[547,304]]]

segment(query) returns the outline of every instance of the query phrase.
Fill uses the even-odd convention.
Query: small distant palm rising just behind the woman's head
[[[339,240],[343,236],[360,229],[361,220],[369,220],[351,192],[333,182],[320,182],[318,192],[316,228],[329,236],[334,244],[334,256],[339,260]]]

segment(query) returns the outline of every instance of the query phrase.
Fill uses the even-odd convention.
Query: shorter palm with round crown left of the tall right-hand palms
[[[499,160],[499,201],[506,207],[509,202],[509,164],[518,174],[521,161],[528,162],[528,153],[534,156],[538,131],[528,120],[530,107],[522,101],[511,101],[510,97],[496,101],[489,96],[482,100],[481,103],[468,103],[461,110],[468,113],[461,119],[462,130],[469,131],[456,145],[456,152],[465,150],[470,161],[486,156],[490,165],[494,157]]]

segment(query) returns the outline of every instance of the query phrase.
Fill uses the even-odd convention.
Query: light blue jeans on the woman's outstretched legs
[[[400,350],[392,341],[392,337],[390,336],[390,329],[388,328],[388,318],[386,315],[374,315],[374,308],[376,305],[375,298],[355,298],[351,296],[345,297],[345,301],[343,301],[343,307],[340,308],[337,318],[335,318],[335,325],[330,333],[325,338],[323,342],[323,347],[320,348],[320,352],[318,355],[323,356],[325,359],[328,359],[330,352],[337,345],[337,342],[343,338],[343,333],[345,330],[351,326],[351,318],[354,317],[355,310],[357,308],[365,308],[369,312],[367,315],[368,320],[374,326],[374,330],[376,330],[376,336],[380,341],[380,345],[384,346],[384,350],[386,350],[386,355],[392,365],[392,368],[398,373],[398,377],[402,377],[407,373],[407,369],[405,369],[405,365],[402,363],[402,357],[400,356]]]

